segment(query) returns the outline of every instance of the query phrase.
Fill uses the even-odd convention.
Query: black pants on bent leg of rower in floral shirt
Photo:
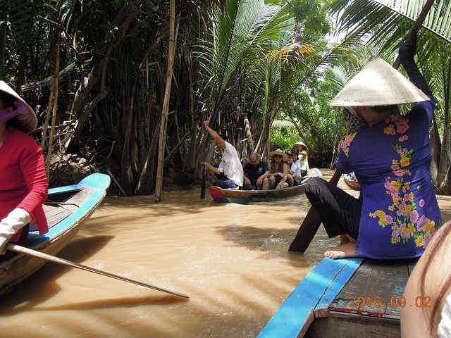
[[[319,177],[309,180],[305,196],[319,213],[329,238],[350,234],[357,240],[362,201]]]

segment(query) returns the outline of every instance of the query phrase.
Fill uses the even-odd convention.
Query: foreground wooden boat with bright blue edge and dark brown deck
[[[400,337],[401,308],[431,301],[402,296],[416,261],[323,258],[257,337]]]

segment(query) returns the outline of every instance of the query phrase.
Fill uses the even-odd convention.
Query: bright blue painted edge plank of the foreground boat
[[[299,283],[257,337],[297,337],[299,332],[307,330],[314,318],[314,309],[319,299],[327,293],[333,280],[349,261],[350,259],[324,258]],[[350,270],[352,267],[354,263],[350,265]],[[334,288],[335,290],[330,292],[338,292],[338,284],[334,284]],[[328,297],[331,297],[331,294],[328,294]]]

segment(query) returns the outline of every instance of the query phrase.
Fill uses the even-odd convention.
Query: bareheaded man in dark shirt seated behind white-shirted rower
[[[268,162],[261,161],[260,155],[253,151],[249,155],[249,162],[243,169],[245,173],[245,190],[268,190],[269,166]]]

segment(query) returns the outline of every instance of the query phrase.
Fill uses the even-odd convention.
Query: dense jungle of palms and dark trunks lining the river
[[[0,3],[0,79],[38,115],[49,180],[77,154],[125,194],[214,158],[202,121],[243,160],[302,140],[333,168],[347,133],[328,101],[371,58],[393,63],[426,0],[14,0]],[[431,172],[451,194],[451,6],[437,0],[418,64],[438,100]],[[402,68],[400,68],[402,71]]]

